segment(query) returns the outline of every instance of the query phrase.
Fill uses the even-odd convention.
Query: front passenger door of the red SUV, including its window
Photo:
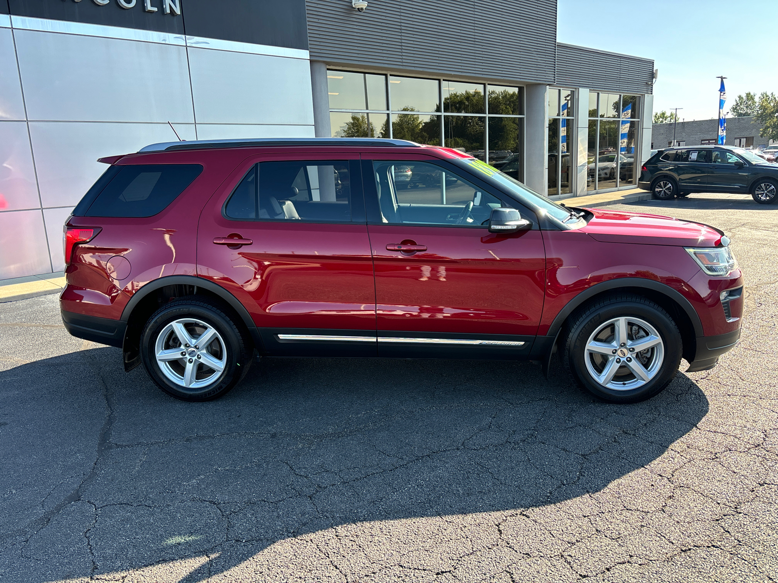
[[[380,356],[517,358],[538,332],[545,251],[531,230],[492,234],[492,208],[516,201],[450,162],[422,155],[363,161]],[[394,180],[407,166],[423,182]]]

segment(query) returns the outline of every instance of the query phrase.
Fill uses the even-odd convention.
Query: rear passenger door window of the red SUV
[[[349,162],[259,162],[224,206],[244,221],[351,221]]]

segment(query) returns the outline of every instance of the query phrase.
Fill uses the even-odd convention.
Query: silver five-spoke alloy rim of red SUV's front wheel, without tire
[[[650,382],[664,361],[664,342],[643,319],[609,319],[587,341],[584,360],[595,382],[607,389],[629,391]]]

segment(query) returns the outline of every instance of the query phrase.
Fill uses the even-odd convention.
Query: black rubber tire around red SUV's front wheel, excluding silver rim
[[[654,379],[645,385],[627,391],[616,391],[601,386],[591,378],[586,366],[585,347],[594,330],[609,319],[633,316],[645,320],[657,330],[664,342],[664,361]],[[566,364],[576,381],[598,399],[611,403],[636,403],[649,399],[664,389],[678,372],[683,351],[681,333],[667,312],[650,302],[621,300],[591,310],[579,319],[569,332],[566,345]]]

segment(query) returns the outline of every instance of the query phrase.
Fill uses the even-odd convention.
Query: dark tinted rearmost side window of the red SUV
[[[202,172],[199,164],[132,164],[120,168],[86,215],[151,217],[167,208]]]

